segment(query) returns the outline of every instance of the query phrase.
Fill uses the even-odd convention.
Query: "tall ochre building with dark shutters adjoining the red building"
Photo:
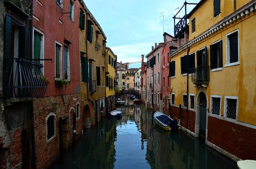
[[[83,127],[88,128],[105,116],[106,35],[83,1],[79,27],[80,92],[85,100]]]

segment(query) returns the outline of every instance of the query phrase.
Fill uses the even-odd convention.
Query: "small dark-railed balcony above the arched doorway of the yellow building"
[[[209,83],[209,66],[199,66],[191,69],[191,72],[191,81],[197,86],[204,86]]]

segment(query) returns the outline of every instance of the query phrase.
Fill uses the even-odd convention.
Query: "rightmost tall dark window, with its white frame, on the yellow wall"
[[[238,30],[235,32],[229,33],[226,35],[226,65],[225,66],[232,66],[239,64],[239,42],[238,42]]]

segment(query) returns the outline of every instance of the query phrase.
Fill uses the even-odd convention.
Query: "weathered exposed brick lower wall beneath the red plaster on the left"
[[[53,163],[59,154],[59,117],[66,119],[63,125],[66,131],[63,131],[64,148],[72,145],[73,135],[73,113],[76,113],[76,103],[80,103],[80,118],[76,121],[76,132],[79,134],[76,139],[81,136],[83,128],[83,110],[84,101],[81,100],[79,94],[51,96],[36,99],[34,106],[34,131],[36,142],[37,167],[47,168]],[[56,137],[49,143],[46,143],[46,117],[49,113],[56,115]],[[66,123],[66,124],[65,124]]]

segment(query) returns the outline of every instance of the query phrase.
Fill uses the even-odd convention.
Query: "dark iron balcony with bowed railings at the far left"
[[[5,59],[3,88],[5,99],[42,97],[46,92],[42,64],[31,60]]]

